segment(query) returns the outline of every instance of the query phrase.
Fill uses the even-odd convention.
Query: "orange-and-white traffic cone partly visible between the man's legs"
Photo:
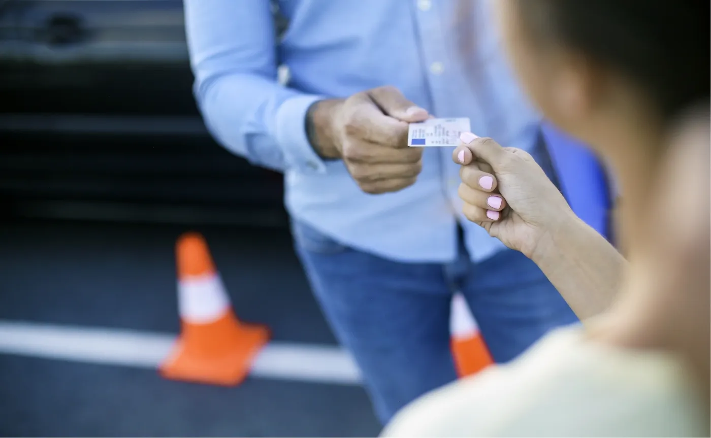
[[[491,353],[481,337],[474,315],[459,293],[454,294],[451,299],[449,333],[454,366],[459,377],[477,373],[493,364]]]

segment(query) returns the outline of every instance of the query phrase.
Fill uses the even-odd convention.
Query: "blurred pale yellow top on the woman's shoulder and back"
[[[384,437],[708,437],[709,412],[675,358],[558,329],[520,358],[430,392]]]

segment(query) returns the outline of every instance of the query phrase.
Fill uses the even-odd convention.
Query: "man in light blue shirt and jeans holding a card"
[[[454,290],[498,362],[575,321],[533,262],[461,214],[452,148],[407,147],[407,122],[470,117],[545,164],[488,1],[278,3],[281,39],[268,0],[185,0],[196,97],[221,144],[284,172],[296,251],[380,420],[456,378]]]

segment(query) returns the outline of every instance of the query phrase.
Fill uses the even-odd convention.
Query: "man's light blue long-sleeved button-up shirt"
[[[268,0],[185,0],[195,93],[205,123],[230,151],[285,174],[296,219],[358,250],[402,262],[456,257],[456,223],[473,260],[503,248],[461,215],[452,148],[424,150],[417,182],[363,193],[342,161],[311,149],[306,110],[324,97],[394,85],[437,117],[469,117],[471,130],[531,149],[540,119],[510,73],[490,0],[280,0],[282,41]],[[471,26],[463,56],[462,31]],[[468,58],[468,59],[467,59]],[[287,85],[277,66],[289,68]]]

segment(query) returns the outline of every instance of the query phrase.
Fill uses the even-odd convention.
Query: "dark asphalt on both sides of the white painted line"
[[[174,245],[205,235],[240,319],[274,341],[336,346],[287,230],[79,222],[0,224],[0,320],[178,333]],[[250,377],[234,388],[154,369],[0,352],[4,437],[363,437],[359,385]]]

